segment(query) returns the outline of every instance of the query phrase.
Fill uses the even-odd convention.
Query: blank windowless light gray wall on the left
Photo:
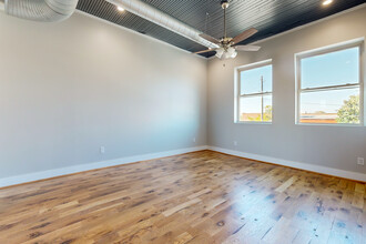
[[[0,33],[0,177],[206,144],[206,60],[80,13]]]

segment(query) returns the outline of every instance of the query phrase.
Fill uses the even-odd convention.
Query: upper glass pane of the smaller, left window
[[[255,68],[241,72],[241,94],[272,92],[272,65]]]

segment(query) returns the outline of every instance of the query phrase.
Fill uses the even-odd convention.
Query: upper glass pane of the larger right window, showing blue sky
[[[359,82],[359,49],[350,48],[301,61],[302,89]]]

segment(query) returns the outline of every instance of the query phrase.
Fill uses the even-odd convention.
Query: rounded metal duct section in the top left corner
[[[77,9],[79,0],[4,0],[9,16],[41,22],[68,19]]]

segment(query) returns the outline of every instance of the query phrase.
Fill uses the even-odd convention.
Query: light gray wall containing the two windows
[[[294,73],[295,53],[365,37],[365,23],[366,8],[362,8],[266,40],[257,53],[210,60],[209,144],[366,173],[366,166],[356,165],[357,156],[366,157],[365,126],[295,125]],[[234,68],[266,59],[273,59],[273,124],[234,124]]]

